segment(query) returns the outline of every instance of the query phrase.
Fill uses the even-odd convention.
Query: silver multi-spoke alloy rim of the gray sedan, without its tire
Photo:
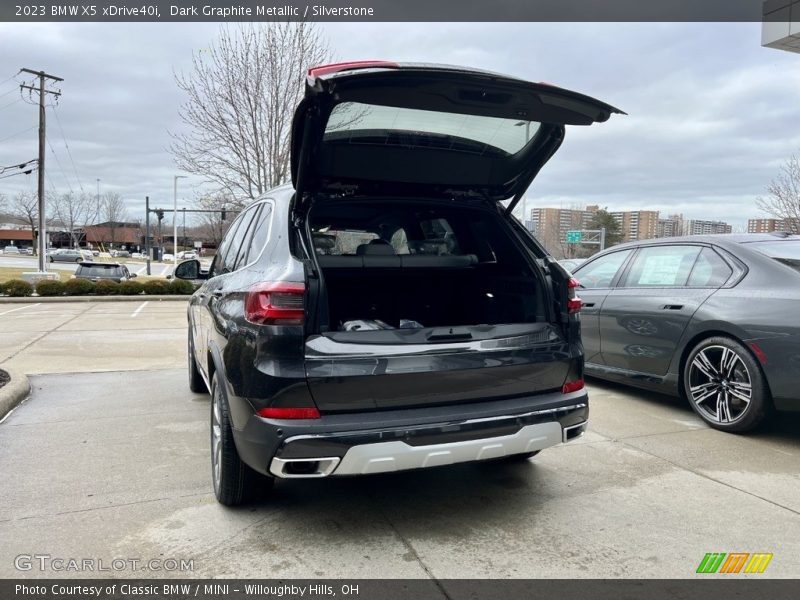
[[[734,350],[705,346],[692,358],[689,394],[702,414],[716,423],[735,423],[753,399],[750,371]]]

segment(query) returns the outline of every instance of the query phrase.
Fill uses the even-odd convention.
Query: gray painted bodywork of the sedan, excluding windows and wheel
[[[603,345],[604,354],[608,344],[608,353],[617,358],[613,364],[608,364],[607,360],[599,361],[597,357],[587,359],[587,374],[678,395],[681,393],[679,384],[687,354],[700,340],[722,335],[742,342],[759,361],[775,408],[800,411],[800,392],[797,391],[797,381],[800,381],[800,322],[796,317],[797,306],[800,306],[800,273],[756,251],[749,243],[775,239],[770,234],[709,235],[615,246],[615,249],[624,249],[676,243],[699,244],[712,248],[722,256],[731,266],[733,274],[718,289],[673,289],[671,295],[659,298],[662,290],[654,294],[657,301],[654,298],[644,298],[642,301],[642,289],[636,290],[638,297],[622,288],[616,288],[611,294],[603,290],[603,293],[616,297],[609,306],[609,314],[601,317],[607,319],[615,333],[609,337],[606,331],[593,333],[584,328],[584,344],[591,347],[595,342],[589,338],[597,335],[596,341]],[[604,254],[598,254],[591,260]],[[584,267],[582,265],[576,270],[579,279]],[[581,290],[580,294],[590,298],[592,292],[594,290]],[[647,292],[652,293],[653,290]],[[662,317],[661,311],[667,304],[684,304],[689,307],[687,312],[693,312],[688,316],[677,311],[676,317],[673,311],[664,311],[669,316]],[[606,304],[603,304],[601,310],[605,307]],[[620,318],[624,315],[650,319],[658,333],[644,336],[641,332],[634,334],[626,330],[620,326]],[[682,332],[676,341],[675,335],[681,328]],[[669,341],[664,343],[659,336],[667,336]],[[634,358],[630,352],[625,352],[624,349],[630,350],[637,340],[648,338],[658,341],[655,344],[640,341],[638,345],[645,349],[652,348],[659,356]],[[673,348],[669,356],[660,356],[662,350],[667,352],[668,348]],[[662,358],[669,359],[666,372],[662,369]]]

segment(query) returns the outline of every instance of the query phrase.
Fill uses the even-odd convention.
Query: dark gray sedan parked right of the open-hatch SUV
[[[623,244],[575,278],[587,374],[682,395],[724,431],[800,411],[800,236]]]

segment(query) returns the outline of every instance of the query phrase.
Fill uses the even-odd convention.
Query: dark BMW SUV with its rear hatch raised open
[[[528,457],[582,434],[576,282],[511,216],[565,125],[617,109],[432,65],[311,69],[292,184],[231,225],[189,308],[214,491]],[[502,203],[509,201],[510,203]]]

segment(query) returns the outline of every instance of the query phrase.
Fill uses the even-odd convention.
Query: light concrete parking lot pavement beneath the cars
[[[114,577],[684,578],[707,552],[771,552],[758,577],[800,575],[800,418],[724,434],[597,382],[589,432],[527,463],[280,481],[224,508],[185,306],[137,308],[0,308],[0,367],[39,373],[0,424],[0,577],[87,575],[15,569],[48,554],[193,561],[90,573]]]

